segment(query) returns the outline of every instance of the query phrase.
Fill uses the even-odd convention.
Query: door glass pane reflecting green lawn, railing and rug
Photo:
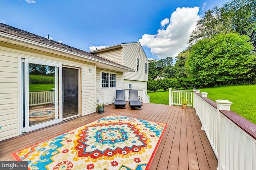
[[[29,63],[29,125],[55,119],[55,67]]]

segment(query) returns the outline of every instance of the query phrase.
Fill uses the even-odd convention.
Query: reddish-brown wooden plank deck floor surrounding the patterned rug
[[[158,147],[150,170],[216,170],[218,162],[210,147],[201,123],[191,107],[160,104],[143,104],[142,110],[130,110],[114,105],[105,106],[103,114],[93,113],[33,131],[19,137],[0,142],[0,160],[14,160],[10,155],[35,143],[80,127],[110,114],[125,115],[139,119],[167,123],[167,129]]]

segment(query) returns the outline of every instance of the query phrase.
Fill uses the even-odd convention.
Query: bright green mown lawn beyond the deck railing
[[[207,92],[213,100],[229,100],[233,104],[231,110],[256,124],[256,85],[226,86],[217,88],[198,89]],[[148,93],[150,103],[169,104],[169,92]]]

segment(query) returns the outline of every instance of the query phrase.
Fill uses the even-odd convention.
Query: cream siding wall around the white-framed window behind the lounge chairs
[[[116,74],[116,87],[112,88],[102,88],[101,87],[101,73],[107,72]],[[116,99],[116,90],[122,90],[124,88],[124,79],[122,73],[116,73],[109,70],[97,69],[97,80],[96,80],[96,101],[99,100],[98,103],[106,103],[113,104]]]

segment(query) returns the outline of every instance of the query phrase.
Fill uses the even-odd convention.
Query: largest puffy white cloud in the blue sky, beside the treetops
[[[188,47],[190,33],[195,28],[196,21],[200,19],[198,12],[199,7],[177,8],[172,13],[166,29],[158,29],[155,35],[142,35],[142,39],[139,39],[140,44],[150,48],[150,52],[161,59],[176,57]],[[164,24],[164,20],[161,21],[161,25]]]

